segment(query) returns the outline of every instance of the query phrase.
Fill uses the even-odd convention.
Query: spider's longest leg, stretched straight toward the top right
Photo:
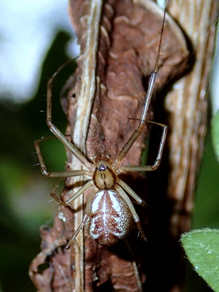
[[[166,13],[166,9],[164,10],[164,19],[163,19],[163,24],[162,24],[161,37],[160,37],[160,43],[159,43],[159,47],[158,47],[156,64],[155,64],[154,72],[150,76],[150,81],[149,81],[149,85],[148,85],[148,90],[147,90],[147,94],[146,94],[146,98],[145,98],[145,104],[144,104],[144,108],[142,111],[141,120],[140,120],[138,128],[134,131],[134,133],[128,139],[127,143],[125,144],[125,146],[122,148],[119,155],[115,159],[115,162],[117,165],[123,160],[123,158],[126,156],[128,151],[130,150],[131,146],[134,144],[134,142],[140,136],[140,134],[145,126],[145,123],[146,123],[146,115],[147,115],[147,111],[149,108],[151,96],[152,96],[152,93],[154,90],[155,81],[157,78],[158,64],[159,64],[159,58],[160,58],[160,53],[161,53],[161,43],[162,43],[162,38],[163,38],[163,33],[164,33],[165,13]]]

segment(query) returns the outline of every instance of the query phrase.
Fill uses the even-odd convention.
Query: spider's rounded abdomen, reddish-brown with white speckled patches
[[[116,190],[100,190],[91,202],[87,230],[101,245],[115,245],[132,229],[132,214],[126,201]]]

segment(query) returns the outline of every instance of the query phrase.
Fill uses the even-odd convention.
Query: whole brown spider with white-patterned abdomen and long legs
[[[165,19],[165,11],[164,11]],[[47,125],[53,134],[66,146],[71,153],[85,166],[86,169],[81,170],[70,170],[63,172],[48,172],[43,161],[42,154],[40,152],[39,143],[44,139],[35,141],[35,148],[37,151],[37,157],[41,167],[41,172],[48,178],[66,178],[75,176],[88,176],[91,178],[90,181],[85,183],[68,201],[64,202],[58,198],[55,193],[52,193],[52,197],[58,201],[61,205],[68,206],[72,201],[82,195],[85,190],[91,188],[91,194],[89,195],[84,217],[82,222],[79,224],[77,230],[74,232],[73,237],[67,243],[66,249],[69,249],[73,244],[74,239],[77,237],[83,226],[87,225],[87,230],[92,239],[101,245],[115,245],[119,240],[128,237],[132,229],[133,219],[139,230],[141,237],[146,240],[146,236],[140,224],[140,219],[134,209],[134,206],[129,199],[127,193],[134,198],[140,205],[145,206],[146,203],[143,201],[126,183],[120,178],[119,174],[126,172],[139,172],[139,171],[152,171],[157,169],[161,163],[161,157],[164,149],[164,142],[167,135],[168,127],[164,124],[146,121],[146,114],[150,104],[152,92],[154,89],[157,73],[158,63],[161,51],[161,43],[164,31],[164,20],[161,30],[160,43],[158,48],[158,54],[156,58],[156,64],[154,72],[151,74],[148,90],[145,98],[144,108],[142,111],[141,119],[138,128],[133,132],[127,143],[121,149],[120,153],[115,159],[103,149],[94,156],[94,163],[90,163],[86,157],[61,133],[61,131],[52,123],[52,94],[51,84],[55,78],[56,73],[48,82],[47,86]],[[62,66],[63,67],[63,66]],[[59,70],[62,69],[59,68]],[[158,149],[157,158],[153,165],[122,165],[122,160],[127,155],[129,149],[134,144],[136,139],[142,133],[142,130],[146,122],[157,124],[163,127],[162,137],[160,146]],[[133,218],[133,219],[132,219]]]

